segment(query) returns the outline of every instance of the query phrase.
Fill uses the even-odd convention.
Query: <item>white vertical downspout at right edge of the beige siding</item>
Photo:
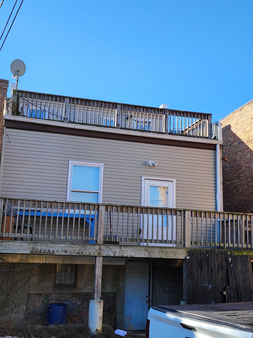
[[[222,141],[221,122],[215,122],[218,140]],[[223,194],[222,194],[222,152],[221,145],[216,145],[216,209],[223,211]]]

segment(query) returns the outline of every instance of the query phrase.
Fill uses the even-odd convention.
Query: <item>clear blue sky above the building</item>
[[[14,3],[0,8],[0,35]],[[21,59],[19,89],[219,120],[253,98],[252,13],[252,0],[24,0],[0,78],[14,82]]]

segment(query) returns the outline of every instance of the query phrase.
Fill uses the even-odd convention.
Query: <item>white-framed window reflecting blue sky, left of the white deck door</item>
[[[103,164],[69,161],[67,200],[102,202]]]

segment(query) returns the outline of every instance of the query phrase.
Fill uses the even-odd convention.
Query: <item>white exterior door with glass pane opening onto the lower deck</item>
[[[142,205],[156,208],[175,208],[175,180],[142,178]],[[176,217],[170,215],[144,215],[141,220],[143,239],[175,240]],[[143,243],[146,245],[146,243]],[[172,246],[170,243],[148,243],[156,246]]]

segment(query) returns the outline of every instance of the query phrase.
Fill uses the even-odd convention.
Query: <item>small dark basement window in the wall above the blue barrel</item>
[[[77,279],[76,264],[56,264],[55,287],[75,288]]]

